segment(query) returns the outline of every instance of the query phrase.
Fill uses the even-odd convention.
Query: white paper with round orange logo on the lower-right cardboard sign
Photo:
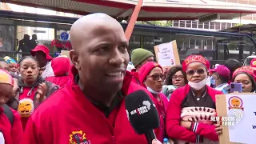
[[[256,94],[226,94],[226,110],[235,117],[234,126],[229,126],[230,142],[256,143]]]

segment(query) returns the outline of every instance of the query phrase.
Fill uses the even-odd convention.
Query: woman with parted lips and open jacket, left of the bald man
[[[35,108],[58,90],[58,86],[44,81],[39,74],[38,61],[34,57],[23,57],[18,65],[21,78],[18,79],[18,92],[15,98],[19,102],[18,113],[22,116],[22,126],[25,130],[26,122]]]

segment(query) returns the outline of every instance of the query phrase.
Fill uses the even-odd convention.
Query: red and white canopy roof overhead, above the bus
[[[138,0],[2,0],[23,6],[58,10],[74,14],[106,13],[128,19]],[[209,14],[232,19],[256,13],[256,6],[203,0],[144,0],[138,20],[194,20]]]

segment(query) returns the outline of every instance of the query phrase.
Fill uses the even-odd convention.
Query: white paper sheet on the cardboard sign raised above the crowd
[[[158,63],[165,67],[165,66],[174,66],[175,65],[175,58],[174,58],[174,50],[173,50],[173,43],[163,43],[158,46]]]

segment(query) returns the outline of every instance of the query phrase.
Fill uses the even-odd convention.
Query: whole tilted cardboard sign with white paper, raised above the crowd
[[[158,64],[169,69],[172,66],[180,65],[176,40],[154,46],[154,52]]]

